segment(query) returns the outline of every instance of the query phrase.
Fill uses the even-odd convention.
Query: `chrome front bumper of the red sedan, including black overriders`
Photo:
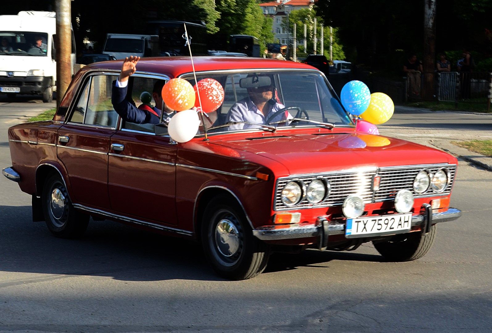
[[[456,208],[449,208],[446,212],[433,213],[429,204],[422,206],[423,214],[412,216],[412,227],[422,226],[424,232],[429,232],[432,224],[456,220],[461,216],[461,211]],[[404,230],[403,232],[407,232]],[[325,217],[318,217],[316,224],[295,223],[286,224],[285,228],[279,225],[267,225],[253,230],[253,236],[262,241],[287,240],[295,238],[309,238],[321,236],[323,240],[330,235],[345,234],[345,223],[330,222]],[[374,235],[364,235],[364,237],[395,235],[395,232],[378,233]]]

